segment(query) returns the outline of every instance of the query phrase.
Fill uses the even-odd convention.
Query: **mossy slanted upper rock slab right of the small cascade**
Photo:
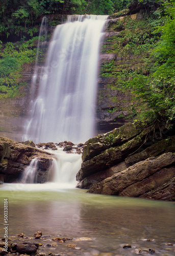
[[[123,125],[126,126],[126,125]],[[129,127],[129,126],[127,126]],[[133,127],[133,126],[132,126]],[[120,127],[120,131],[122,131],[123,127]],[[124,129],[124,131],[127,131]],[[79,170],[76,179],[77,181],[82,181],[87,176],[90,176],[94,173],[100,172],[102,170],[108,169],[109,167],[116,165],[117,163],[122,162],[129,154],[135,152],[138,150],[138,148],[144,143],[145,136],[151,131],[151,127],[147,127],[143,130],[143,132],[139,135],[134,137],[133,139],[130,139],[128,141],[127,138],[132,138],[134,134],[136,135],[136,129],[133,130],[134,132],[126,132],[126,134],[123,133],[123,137],[121,136],[121,133],[117,133],[117,136],[114,137],[113,142],[107,142],[104,143],[104,147],[99,146],[101,149],[108,146],[109,148],[105,151],[102,151],[99,153],[99,148],[97,148],[96,152],[99,153],[97,156],[91,158],[90,160],[84,160],[90,158],[92,156],[92,153],[95,154],[94,148],[92,148],[92,145],[96,145],[96,143],[89,143],[87,142],[87,148],[84,146],[85,151],[83,151],[83,163],[81,165],[81,169]],[[94,137],[96,141],[97,137]],[[93,139],[90,139],[93,140]],[[115,141],[115,142],[114,142]],[[121,144],[120,146],[111,146],[113,143],[115,144],[116,141],[118,141],[118,144],[121,143],[121,141],[125,142]],[[127,142],[126,142],[127,141]],[[86,144],[86,143],[85,143]],[[102,143],[103,144],[103,143]]]

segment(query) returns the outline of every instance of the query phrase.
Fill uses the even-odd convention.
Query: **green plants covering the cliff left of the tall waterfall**
[[[28,41],[7,42],[0,59],[0,98],[21,96],[20,88],[26,86],[21,81],[21,70],[25,63],[34,63],[38,37]]]

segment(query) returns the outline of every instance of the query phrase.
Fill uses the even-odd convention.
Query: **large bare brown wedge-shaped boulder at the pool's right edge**
[[[154,157],[134,164],[119,173],[90,187],[89,193],[154,198],[153,190],[156,190],[160,199],[164,193],[160,187],[164,187],[165,193],[169,190],[168,200],[175,200],[175,154],[165,153],[157,159]],[[151,196],[152,194],[152,196]],[[156,197],[154,199],[157,199]],[[167,200],[167,198],[166,198]]]

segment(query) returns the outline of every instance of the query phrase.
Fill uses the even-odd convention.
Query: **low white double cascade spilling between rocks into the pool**
[[[76,174],[81,168],[82,157],[79,154],[67,154],[63,148],[59,148],[57,152],[46,150],[55,155],[47,173],[47,183],[57,188],[76,187]],[[38,159],[33,158],[30,165],[24,170],[21,183],[37,183],[38,182]]]

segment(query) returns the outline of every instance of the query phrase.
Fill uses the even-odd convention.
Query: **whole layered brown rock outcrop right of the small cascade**
[[[152,127],[140,132],[128,123],[89,139],[77,187],[96,194],[175,200],[175,136],[159,135]]]

